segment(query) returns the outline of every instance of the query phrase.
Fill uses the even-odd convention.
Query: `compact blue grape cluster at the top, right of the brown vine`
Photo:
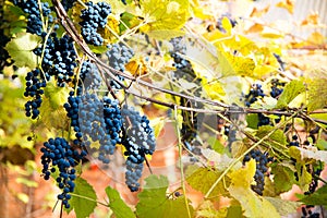
[[[87,44],[101,46],[104,38],[97,33],[97,29],[105,28],[107,17],[111,13],[111,7],[107,2],[94,4],[92,1],[88,1],[85,4],[87,9],[83,9],[81,14],[81,34]]]

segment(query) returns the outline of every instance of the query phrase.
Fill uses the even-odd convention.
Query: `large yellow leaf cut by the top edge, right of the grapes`
[[[189,0],[141,0],[142,16],[146,25],[141,31],[180,29],[190,15]]]

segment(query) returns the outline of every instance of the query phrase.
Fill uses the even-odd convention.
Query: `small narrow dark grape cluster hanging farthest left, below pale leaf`
[[[28,72],[25,80],[26,88],[24,92],[24,96],[33,98],[25,104],[25,114],[26,117],[36,119],[39,116],[38,108],[43,102],[41,95],[44,94],[43,88],[46,87],[46,82],[45,80],[40,78],[39,69],[35,69],[34,71]]]

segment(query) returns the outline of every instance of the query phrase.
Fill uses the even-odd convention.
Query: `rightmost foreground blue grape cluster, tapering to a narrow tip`
[[[156,148],[155,135],[145,116],[126,105],[121,109],[123,136],[121,144],[125,147],[126,184],[131,192],[140,187],[137,182],[142,175],[145,155],[153,155]]]

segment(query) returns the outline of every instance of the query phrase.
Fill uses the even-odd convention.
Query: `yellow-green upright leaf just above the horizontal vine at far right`
[[[305,86],[301,81],[291,81],[286,85],[282,94],[278,98],[277,108],[287,108],[288,104],[291,102],[298,95],[305,92]]]

